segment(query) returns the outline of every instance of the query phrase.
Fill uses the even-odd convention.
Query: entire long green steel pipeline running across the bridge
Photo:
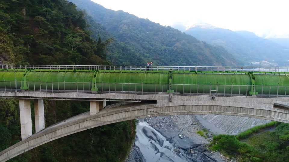
[[[172,90],[180,93],[249,94],[254,87],[257,94],[288,95],[288,75],[248,74],[172,74]],[[16,79],[15,79],[16,78]],[[1,71],[0,88],[23,90],[92,90],[166,92],[169,73],[101,73],[101,72],[35,72]],[[213,92],[212,92],[213,93]]]

